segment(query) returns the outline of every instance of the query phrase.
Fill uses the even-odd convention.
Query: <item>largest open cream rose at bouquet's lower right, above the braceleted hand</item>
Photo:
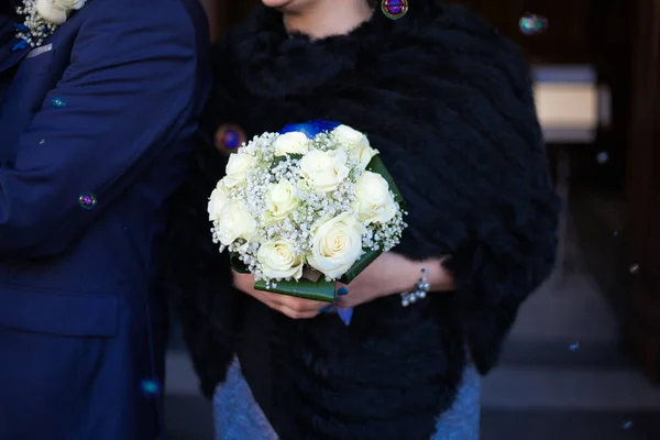
[[[312,238],[309,265],[330,278],[339,278],[360,258],[364,228],[348,212],[321,224]]]

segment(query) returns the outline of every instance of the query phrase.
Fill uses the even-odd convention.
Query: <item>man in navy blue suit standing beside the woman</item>
[[[0,6],[0,439],[153,440],[154,267],[208,91],[206,16],[198,0],[13,1],[58,25],[16,36],[25,16]]]

